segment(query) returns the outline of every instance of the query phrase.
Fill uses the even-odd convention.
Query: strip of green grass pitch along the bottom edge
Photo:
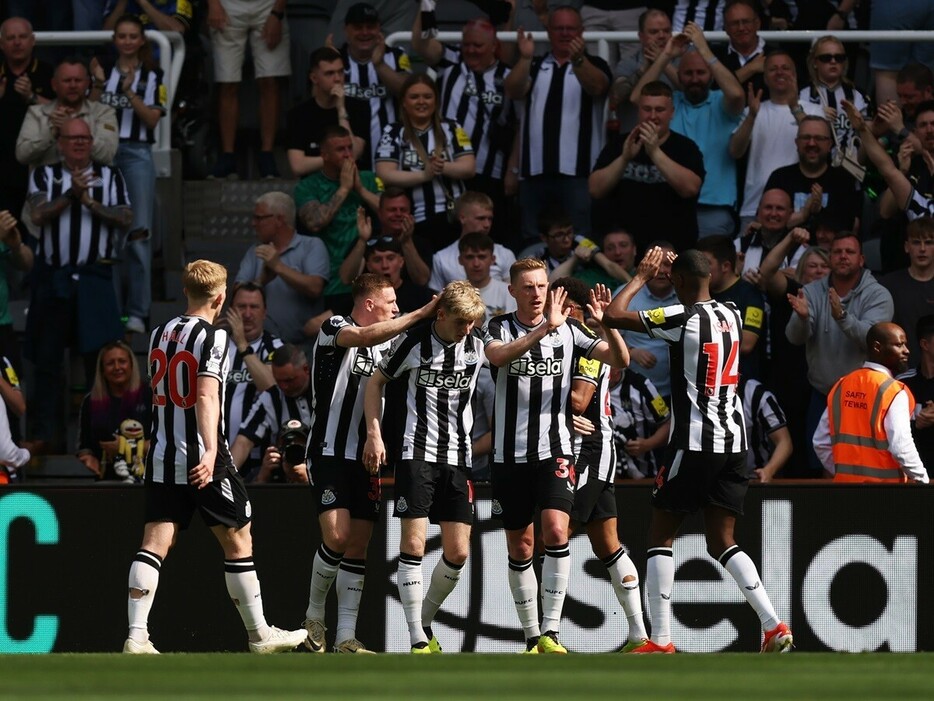
[[[0,656],[0,699],[930,699],[932,654]]]

